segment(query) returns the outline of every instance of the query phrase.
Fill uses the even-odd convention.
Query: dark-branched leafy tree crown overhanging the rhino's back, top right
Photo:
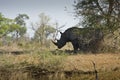
[[[83,27],[108,31],[120,27],[120,0],[75,0],[74,9],[76,17],[83,17]]]

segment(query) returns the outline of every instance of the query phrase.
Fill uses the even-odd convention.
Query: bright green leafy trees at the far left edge
[[[28,18],[26,14],[19,14],[15,19],[9,19],[0,13],[0,38],[8,34],[14,37],[24,35],[27,30],[24,20]]]

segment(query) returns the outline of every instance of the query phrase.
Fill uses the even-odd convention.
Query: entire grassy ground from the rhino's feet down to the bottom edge
[[[17,47],[0,50],[3,49],[8,52],[0,54],[0,80],[95,80],[93,62],[99,80],[120,80],[119,52],[70,54],[55,48],[34,47],[22,54],[12,54],[10,51]]]

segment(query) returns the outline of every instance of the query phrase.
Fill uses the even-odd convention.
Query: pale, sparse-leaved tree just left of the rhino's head
[[[55,32],[55,29],[49,23],[50,22],[49,16],[45,15],[44,13],[41,13],[39,15],[39,18],[40,21],[37,23],[35,27],[33,27],[33,30],[35,31],[34,39],[36,41],[39,41],[41,45],[44,45],[46,43],[47,38],[52,33]]]

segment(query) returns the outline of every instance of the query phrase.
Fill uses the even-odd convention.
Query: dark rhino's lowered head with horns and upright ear
[[[61,33],[61,32],[60,32]],[[59,49],[62,48],[65,44],[66,44],[66,37],[65,37],[65,34],[64,33],[61,33],[61,37],[59,40],[57,40],[56,42],[55,41],[52,41]]]

